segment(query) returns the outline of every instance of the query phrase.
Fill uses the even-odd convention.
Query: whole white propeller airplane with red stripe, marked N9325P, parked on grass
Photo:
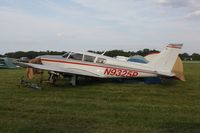
[[[97,78],[177,77],[184,80],[183,71],[174,69],[183,44],[169,44],[148,63],[128,62],[90,52],[68,52],[62,56],[43,55],[32,63],[18,65],[50,71],[53,75],[68,75],[76,85],[77,76]],[[182,64],[180,64],[182,65]]]

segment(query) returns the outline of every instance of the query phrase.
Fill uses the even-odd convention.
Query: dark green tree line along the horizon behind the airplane
[[[104,51],[93,51],[93,50],[88,50],[89,52],[93,52],[93,53],[98,53],[98,54],[102,54],[104,53]],[[139,50],[139,51],[124,51],[124,50],[110,50],[110,51],[106,51],[104,55],[110,56],[110,57],[115,57],[115,56],[126,56],[126,57],[130,57],[130,56],[134,56],[134,55],[141,55],[141,56],[146,56],[148,54],[151,53],[157,53],[160,52],[158,50],[150,50],[150,49],[143,49],[143,50]],[[17,51],[17,52],[9,52],[6,53],[4,55],[0,55],[0,57],[10,57],[10,58],[16,58],[19,59],[21,57],[28,57],[29,59],[33,59],[37,56],[41,56],[41,55],[63,55],[64,53],[66,53],[66,51],[28,51],[28,52],[24,52],[24,51]],[[200,54],[198,53],[193,53],[193,54],[188,54],[188,53],[183,53],[179,55],[180,58],[182,60],[200,60]]]

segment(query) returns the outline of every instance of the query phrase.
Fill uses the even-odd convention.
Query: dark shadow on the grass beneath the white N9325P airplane
[[[35,82],[39,82],[35,81]],[[34,82],[33,82],[34,83]],[[42,86],[43,90],[62,90],[62,89],[74,89],[74,88],[93,88],[97,86],[101,86],[102,84],[142,84],[142,85],[158,85],[162,86],[164,88],[169,88],[171,86],[174,86],[177,81],[174,79],[165,79],[161,83],[152,83],[152,84],[146,84],[144,83],[143,78],[136,78],[136,79],[101,79],[101,78],[91,78],[91,77],[78,77],[77,85],[72,86],[70,85],[70,79],[69,78],[61,78],[58,80],[55,84],[52,83],[42,83],[39,84],[39,86]]]

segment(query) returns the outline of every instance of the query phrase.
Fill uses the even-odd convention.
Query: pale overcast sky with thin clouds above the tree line
[[[168,43],[200,53],[200,0],[0,0],[0,54]]]

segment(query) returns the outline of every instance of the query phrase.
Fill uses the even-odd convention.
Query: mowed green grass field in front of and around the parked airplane
[[[200,132],[200,64],[165,84],[61,81],[18,88],[24,69],[0,70],[0,132]]]

